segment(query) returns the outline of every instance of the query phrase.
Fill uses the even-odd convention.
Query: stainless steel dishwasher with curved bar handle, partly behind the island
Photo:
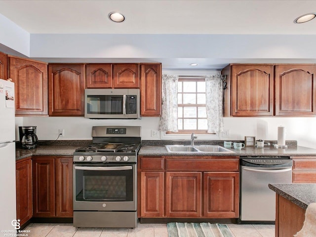
[[[290,158],[240,159],[240,215],[238,223],[274,223],[276,193],[268,184],[292,183]]]

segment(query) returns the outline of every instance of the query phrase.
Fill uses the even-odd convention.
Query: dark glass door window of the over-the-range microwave
[[[98,115],[121,115],[123,114],[122,95],[88,95],[87,113]]]

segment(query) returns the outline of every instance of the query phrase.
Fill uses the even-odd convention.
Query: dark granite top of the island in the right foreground
[[[269,184],[269,188],[305,210],[316,202],[316,184]]]

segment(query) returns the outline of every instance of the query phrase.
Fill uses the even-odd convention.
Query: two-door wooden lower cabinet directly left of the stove
[[[72,217],[72,163],[68,157],[33,158],[33,216]]]

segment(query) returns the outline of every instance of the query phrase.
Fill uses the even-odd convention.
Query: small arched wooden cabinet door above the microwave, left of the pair
[[[112,64],[87,64],[87,88],[111,88]]]

